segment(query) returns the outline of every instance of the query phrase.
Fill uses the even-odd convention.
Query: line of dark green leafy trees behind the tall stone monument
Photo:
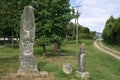
[[[35,40],[43,47],[54,43],[60,48],[64,39],[75,39],[75,24],[70,21],[78,17],[70,7],[70,0],[1,0],[0,37],[19,38],[20,18],[25,6],[32,5],[35,11]],[[93,38],[89,28],[79,25],[79,38]]]

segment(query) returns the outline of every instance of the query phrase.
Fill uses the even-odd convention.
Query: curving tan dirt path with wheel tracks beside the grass
[[[101,43],[101,41],[97,41],[97,40],[96,40],[96,41],[94,42],[94,45],[95,45],[98,49],[100,49],[101,51],[103,51],[103,52],[105,52],[105,53],[107,53],[107,54],[109,54],[109,55],[111,55],[111,56],[113,56],[113,57],[115,57],[115,58],[117,58],[117,59],[120,60],[120,52],[115,51],[115,50],[113,50],[113,49],[110,49],[110,48],[104,46],[104,45]]]

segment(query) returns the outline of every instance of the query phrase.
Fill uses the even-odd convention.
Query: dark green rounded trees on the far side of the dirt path
[[[120,17],[114,18],[113,16],[110,16],[105,24],[102,37],[106,43],[120,43]]]

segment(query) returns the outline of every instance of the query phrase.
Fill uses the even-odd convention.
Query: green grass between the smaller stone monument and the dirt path
[[[91,74],[91,80],[119,80],[120,61],[107,55],[94,46],[87,48],[87,70]]]

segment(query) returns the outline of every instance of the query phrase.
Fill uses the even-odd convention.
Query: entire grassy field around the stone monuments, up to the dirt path
[[[54,76],[51,80],[81,80],[75,77],[78,70],[77,58],[80,44],[66,42],[62,51],[55,53],[53,46],[47,47],[47,56],[42,56],[42,49],[34,47],[39,70],[46,70]],[[120,61],[101,52],[94,47],[91,40],[81,40],[86,44],[86,71],[90,73],[90,80],[120,80]],[[17,72],[19,50],[9,47],[0,48],[0,77],[10,72]],[[67,75],[63,72],[64,63],[71,63],[73,73]]]

